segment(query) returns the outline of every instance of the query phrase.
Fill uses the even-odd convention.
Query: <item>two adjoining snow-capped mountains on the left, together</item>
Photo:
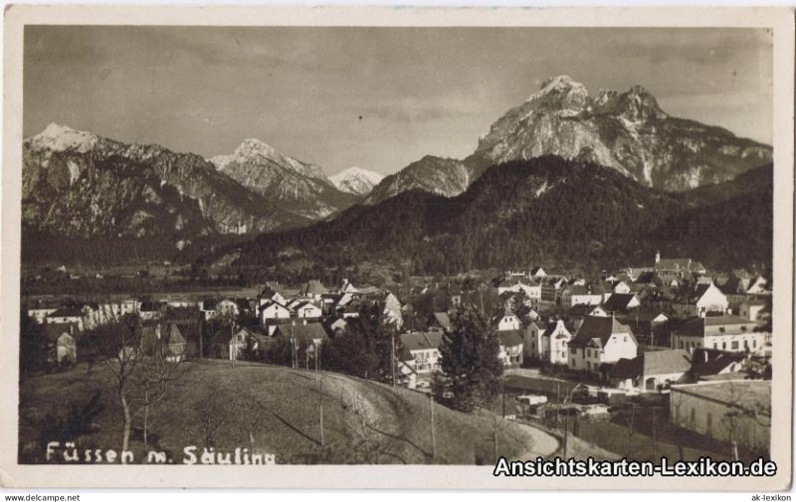
[[[359,198],[317,166],[248,139],[211,160],[50,124],[22,145],[22,224],[76,238],[269,232],[330,216]]]

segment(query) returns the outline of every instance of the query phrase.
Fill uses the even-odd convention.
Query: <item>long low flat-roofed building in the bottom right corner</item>
[[[673,386],[669,420],[716,441],[765,454],[771,442],[771,380]]]

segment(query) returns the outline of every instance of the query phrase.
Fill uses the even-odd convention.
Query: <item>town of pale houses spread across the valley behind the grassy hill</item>
[[[597,277],[536,266],[408,279],[23,295],[20,368],[69,373],[107,357],[157,356],[230,372],[281,365],[375,379],[461,408],[443,354],[455,353],[469,312],[483,321],[478,337],[496,341],[490,412],[547,430],[564,455],[574,438],[637,459],[768,455],[775,341],[759,272],[706,270],[657,252]],[[130,334],[116,337],[120,326]]]

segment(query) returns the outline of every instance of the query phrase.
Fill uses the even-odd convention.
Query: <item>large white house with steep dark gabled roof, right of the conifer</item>
[[[638,341],[616,317],[588,316],[569,348],[569,369],[599,374],[605,372],[605,364],[637,356]]]

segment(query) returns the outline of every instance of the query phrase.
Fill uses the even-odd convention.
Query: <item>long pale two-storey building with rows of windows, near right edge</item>
[[[671,348],[762,352],[766,333],[754,329],[755,321],[738,316],[692,317],[672,332]]]

